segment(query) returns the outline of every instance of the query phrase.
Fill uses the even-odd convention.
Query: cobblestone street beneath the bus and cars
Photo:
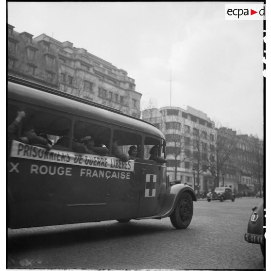
[[[263,269],[260,246],[243,237],[258,202],[198,201],[186,230],[169,218],[8,230],[8,268]]]

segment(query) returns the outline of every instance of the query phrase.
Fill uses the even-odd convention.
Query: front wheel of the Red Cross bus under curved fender
[[[186,229],[193,216],[193,201],[188,193],[183,193],[170,215],[170,221],[176,229]]]

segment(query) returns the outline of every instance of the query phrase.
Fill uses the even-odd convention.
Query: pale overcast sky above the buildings
[[[170,105],[171,68],[172,106],[263,138],[263,22],[225,20],[224,2],[8,2],[8,23],[126,70],[141,109]]]

